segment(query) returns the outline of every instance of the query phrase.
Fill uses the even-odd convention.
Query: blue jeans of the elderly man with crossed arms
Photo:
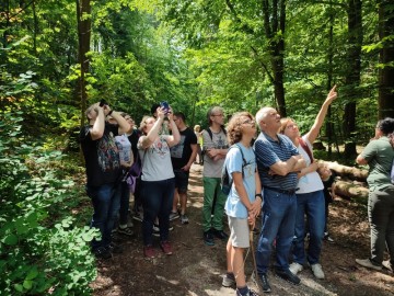
[[[296,194],[283,194],[264,189],[263,227],[256,250],[257,273],[267,273],[276,239],[277,270],[289,269],[289,253],[294,237],[297,213]]]

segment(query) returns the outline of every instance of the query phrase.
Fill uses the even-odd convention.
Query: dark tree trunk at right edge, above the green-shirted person
[[[383,43],[380,49],[379,68],[379,118],[394,117],[394,46],[387,38],[394,37],[393,3],[387,0],[378,0],[379,5],[379,37]],[[390,65],[391,64],[391,65]]]

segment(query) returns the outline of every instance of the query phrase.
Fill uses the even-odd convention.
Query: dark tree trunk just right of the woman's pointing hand
[[[361,45],[362,45],[362,15],[361,0],[348,0],[348,69],[345,79],[347,86],[346,96],[348,102],[345,105],[344,136],[345,156],[355,157],[356,150],[356,100],[360,98],[360,71],[361,71]]]

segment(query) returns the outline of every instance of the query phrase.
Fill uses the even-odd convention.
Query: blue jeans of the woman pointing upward
[[[310,231],[306,259],[312,265],[318,263],[324,237],[326,217],[323,191],[297,194],[296,239],[292,253],[293,261],[301,265],[305,263],[305,214]]]

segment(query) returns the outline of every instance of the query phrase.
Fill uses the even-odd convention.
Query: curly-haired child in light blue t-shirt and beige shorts
[[[250,248],[248,232],[254,228],[262,208],[262,185],[256,170],[256,157],[251,140],[256,122],[248,112],[235,113],[228,126],[228,140],[232,147],[227,153],[223,170],[230,177],[230,193],[225,202],[231,235],[227,244],[228,273],[222,285],[236,284],[237,296],[257,295],[245,281],[243,252]]]

